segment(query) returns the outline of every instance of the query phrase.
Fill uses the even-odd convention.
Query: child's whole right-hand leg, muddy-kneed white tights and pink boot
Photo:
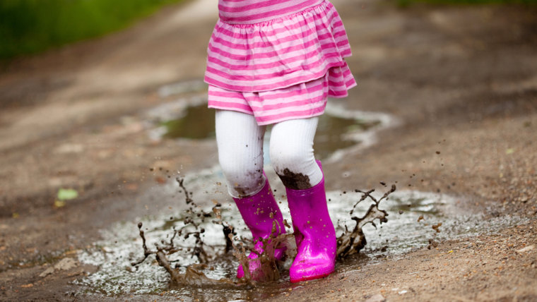
[[[284,121],[271,134],[271,161],[285,185],[297,243],[289,268],[291,282],[325,277],[334,272],[336,263],[336,231],[320,162],[313,155],[316,128],[317,118]]]

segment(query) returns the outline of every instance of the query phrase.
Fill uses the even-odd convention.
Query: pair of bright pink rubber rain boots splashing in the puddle
[[[317,161],[319,167],[321,162]],[[334,272],[336,262],[336,231],[329,216],[324,191],[324,176],[320,183],[305,190],[285,189],[293,230],[297,243],[297,256],[289,269],[291,282],[301,282],[326,277]],[[255,195],[247,198],[233,198],[239,208],[242,219],[252,231],[254,249],[261,253],[263,243],[259,238],[268,238],[273,231],[273,222],[276,221],[276,230],[273,236],[285,233],[283,217],[274,199],[268,180],[264,188]],[[274,257],[283,258],[285,248],[274,251]],[[256,253],[250,253],[249,272],[254,279],[259,274],[259,261]],[[237,269],[237,277],[244,277],[242,265]]]

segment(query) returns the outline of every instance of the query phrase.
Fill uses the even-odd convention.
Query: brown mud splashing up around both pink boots
[[[179,183],[179,187],[182,189],[182,191],[184,191],[185,203],[187,205],[195,205],[194,200],[191,199],[189,192],[184,187],[184,179],[178,178],[177,182]],[[349,218],[354,220],[356,222],[356,225],[353,231],[348,231],[347,227],[345,226],[346,231],[338,238],[337,254],[339,258],[345,258],[348,255],[358,253],[367,244],[367,241],[365,240],[365,235],[362,231],[362,228],[366,224],[372,224],[374,227],[376,227],[376,225],[374,224],[375,220],[378,220],[379,224],[388,221],[386,218],[388,216],[388,213],[386,213],[386,211],[384,210],[379,210],[379,205],[382,200],[388,198],[388,196],[391,193],[394,193],[395,190],[396,186],[392,185],[391,189],[389,191],[386,191],[386,193],[384,193],[384,195],[382,195],[382,197],[378,199],[371,195],[374,190],[370,190],[367,192],[356,190],[356,192],[362,193],[362,197],[353,205],[352,210],[350,210],[349,212],[349,214],[351,215]],[[367,198],[370,198],[370,200],[372,200],[372,205],[370,205],[365,215],[363,217],[352,216],[354,208]],[[138,229],[140,237],[142,239],[143,258],[136,262],[132,262],[131,265],[140,265],[148,258],[149,255],[155,255],[158,265],[160,265],[160,267],[165,268],[165,270],[170,274],[172,283],[175,284],[199,285],[200,283],[205,283],[255,285],[256,281],[270,282],[277,281],[278,279],[280,279],[278,260],[276,260],[273,255],[274,250],[276,250],[276,248],[281,248],[282,246],[289,246],[289,244],[287,243],[288,237],[292,236],[292,231],[290,231],[289,224],[287,222],[284,223],[285,227],[288,227],[287,234],[281,234],[277,237],[271,236],[262,240],[263,251],[262,253],[258,253],[258,251],[253,248],[252,241],[246,242],[247,240],[245,240],[244,238],[234,236],[236,235],[236,233],[233,231],[233,229],[235,228],[232,227],[232,225],[230,225],[229,223],[225,223],[222,221],[220,207],[220,203],[216,203],[216,205],[212,208],[214,217],[213,215],[211,215],[210,212],[203,212],[203,210],[194,211],[193,207],[189,207],[189,210],[187,211],[187,215],[189,216],[184,219],[184,226],[180,229],[175,229],[174,227],[170,240],[161,240],[160,244],[155,243],[155,250],[151,250],[151,248],[147,247],[146,236],[144,231],[142,230],[143,224],[142,222],[139,222]],[[201,224],[205,222],[206,218],[210,217],[217,219],[213,220],[213,224],[218,224],[223,227],[222,230],[224,234],[224,240],[226,242],[226,248],[225,250],[223,250],[223,253],[228,253],[229,246],[232,246],[234,249],[233,255],[235,255],[237,260],[241,263],[242,267],[244,267],[244,278],[240,279],[239,282],[233,282],[232,280],[225,278],[218,280],[211,279],[206,277],[203,272],[199,271],[199,268],[206,268],[209,263],[209,255],[206,253],[205,248],[206,243],[203,242],[200,235],[205,232],[205,229],[201,227]],[[276,222],[274,222],[274,224],[274,231],[278,227],[283,227],[276,226]],[[194,231],[187,231],[187,233],[184,234],[184,239],[189,238],[189,236],[194,236],[196,238],[194,246],[190,246],[188,248],[176,246],[174,239],[183,236],[183,231],[185,229],[188,229],[189,227],[190,229],[194,228]],[[238,243],[235,243],[235,241],[238,241]],[[246,248],[245,243],[248,243],[248,246]],[[238,245],[240,245],[240,247],[238,247]],[[170,260],[168,260],[168,258],[172,257],[175,253],[184,251],[185,249],[187,249],[187,251],[192,250],[192,255],[196,256],[199,263],[197,263],[196,265],[189,265],[188,267],[185,267],[187,272],[181,274],[178,270],[181,264],[177,263],[175,267],[172,267],[172,265],[170,264],[171,262]],[[295,251],[294,253],[289,253],[291,250],[293,249],[289,248],[286,250],[288,258],[294,258],[296,254]],[[251,263],[249,262],[249,258],[247,257],[249,253],[255,253],[256,255],[258,255],[258,259],[256,261],[261,262],[261,272],[257,274],[256,278],[251,276],[248,270],[248,267]],[[218,257],[218,255],[216,255],[216,257]]]

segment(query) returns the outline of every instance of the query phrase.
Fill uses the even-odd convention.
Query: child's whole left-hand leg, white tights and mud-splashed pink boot
[[[254,249],[264,250],[259,238],[285,233],[283,216],[274,199],[271,186],[263,174],[264,126],[257,126],[254,116],[236,111],[216,111],[216,140],[218,157],[228,191],[235,200],[244,223],[252,231]],[[274,257],[283,258],[285,247],[276,248]],[[249,273],[253,279],[264,279],[261,262],[256,253],[248,256]],[[237,277],[244,277],[242,265]]]

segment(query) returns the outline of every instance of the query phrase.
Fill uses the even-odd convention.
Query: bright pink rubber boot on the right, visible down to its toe
[[[321,162],[317,164],[321,167]],[[289,269],[291,282],[326,277],[336,263],[336,230],[326,205],[324,176],[312,188],[285,191],[297,243],[297,256]]]

